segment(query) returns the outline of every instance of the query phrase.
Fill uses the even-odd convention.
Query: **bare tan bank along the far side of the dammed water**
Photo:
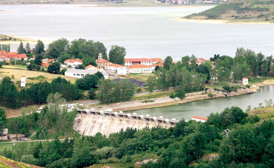
[[[146,99],[146,100],[154,100],[154,102],[144,103],[144,100],[137,100],[137,101],[128,101],[128,102],[120,102],[120,103],[114,103],[114,104],[108,104],[108,105],[99,105],[94,106],[91,108],[102,110],[102,109],[113,109],[113,111],[133,111],[133,110],[141,110],[141,109],[152,109],[152,108],[158,108],[158,107],[166,107],[166,106],[173,106],[173,105],[179,105],[184,103],[190,103],[195,102],[199,100],[205,100],[205,99],[216,99],[216,98],[222,98],[222,97],[232,97],[232,96],[239,96],[239,95],[245,95],[245,94],[252,94],[256,93],[261,86],[274,84],[274,79],[265,80],[263,82],[255,83],[251,85],[251,88],[248,89],[240,89],[237,92],[231,92],[226,95],[225,92],[220,91],[209,91],[205,94],[197,94],[195,93],[189,93],[190,96],[187,96],[183,100],[180,99],[171,99],[170,97],[160,97],[160,98],[154,98],[154,99]],[[208,93],[213,93],[214,96],[210,97]],[[193,94],[193,95],[191,95]]]

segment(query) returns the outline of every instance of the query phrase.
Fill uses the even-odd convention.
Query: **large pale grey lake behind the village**
[[[0,5],[0,33],[56,40],[86,38],[125,46],[127,57],[234,56],[237,47],[274,54],[274,24],[172,21],[212,6],[87,7],[70,4]],[[11,49],[16,50],[17,45]]]

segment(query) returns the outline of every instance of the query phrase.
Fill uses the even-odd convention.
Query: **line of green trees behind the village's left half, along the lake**
[[[80,65],[78,69],[84,69],[85,66],[96,64],[96,59],[99,53],[102,53],[103,58],[110,60],[112,63],[124,64],[124,58],[127,54],[126,48],[118,45],[113,45],[107,54],[107,48],[102,42],[95,42],[93,40],[86,40],[83,38],[68,41],[65,38],[60,38],[53,41],[45,49],[44,43],[41,40],[37,41],[35,47],[31,50],[29,43],[26,43],[25,47],[20,42],[17,53],[25,53],[29,58],[35,55],[34,60],[30,60],[30,64],[27,66],[28,70],[41,70],[41,63],[43,58],[54,58],[58,62],[52,63],[47,72],[49,73],[60,73],[60,63],[64,63],[66,59],[80,58],[83,61],[83,65]],[[20,63],[20,62],[19,62]]]

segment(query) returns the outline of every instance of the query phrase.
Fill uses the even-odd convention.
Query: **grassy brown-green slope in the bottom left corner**
[[[42,168],[42,167],[29,165],[21,162],[16,162],[0,156],[0,168]]]

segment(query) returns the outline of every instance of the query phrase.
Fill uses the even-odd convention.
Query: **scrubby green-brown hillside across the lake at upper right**
[[[183,18],[274,22],[274,0],[229,0],[229,2]]]

